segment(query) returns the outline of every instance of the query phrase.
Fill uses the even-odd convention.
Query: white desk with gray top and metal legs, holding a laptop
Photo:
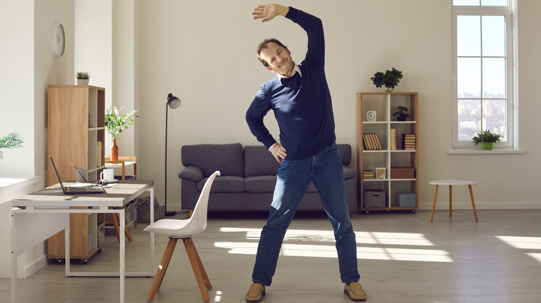
[[[69,185],[69,183],[65,184]],[[105,189],[105,194],[63,194],[56,184],[43,190],[11,201],[11,302],[17,302],[17,257],[36,244],[45,241],[56,232],[65,229],[69,235],[70,213],[118,213],[120,230],[126,228],[124,209],[126,203],[149,191],[151,205],[154,205],[154,181],[123,181],[117,186]],[[88,207],[85,209],[70,208]],[[115,209],[110,209],[117,207]],[[154,222],[154,208],[151,208],[151,223]],[[154,234],[151,232],[151,257],[148,272],[126,273],[126,245],[124,232],[120,232],[119,272],[71,272],[69,266],[69,236],[65,237],[66,276],[71,277],[120,277],[120,302],[124,302],[126,275],[130,277],[153,277]]]

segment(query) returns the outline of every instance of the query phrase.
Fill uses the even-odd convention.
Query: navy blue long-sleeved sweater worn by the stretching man
[[[286,160],[318,154],[336,140],[331,93],[325,78],[325,38],[318,17],[289,8],[286,18],[300,25],[308,35],[308,51],[300,64],[302,77],[273,80],[261,85],[246,112],[246,122],[257,140],[270,148],[276,143],[263,123],[271,109],[280,127],[280,143]]]

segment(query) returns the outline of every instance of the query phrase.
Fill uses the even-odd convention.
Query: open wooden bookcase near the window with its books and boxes
[[[393,117],[399,106],[408,108],[410,117],[405,121]],[[368,121],[368,111],[372,116],[375,111],[375,120]],[[415,212],[418,208],[418,118],[418,93],[357,93],[357,192],[361,210]]]

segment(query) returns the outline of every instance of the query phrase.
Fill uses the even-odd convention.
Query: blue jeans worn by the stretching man
[[[333,143],[315,156],[282,160],[271,211],[257,247],[253,282],[271,285],[284,235],[311,182],[316,185],[323,208],[334,228],[342,282],[359,281],[357,243],[347,207],[342,158]]]

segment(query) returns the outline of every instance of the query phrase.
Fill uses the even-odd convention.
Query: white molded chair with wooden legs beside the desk
[[[169,237],[169,243],[165,249],[164,257],[160,262],[160,266],[158,266],[158,270],[151,287],[151,292],[148,293],[148,297],[146,298],[147,301],[154,300],[154,295],[156,294],[158,288],[160,288],[162,285],[167,266],[169,266],[169,261],[171,261],[171,256],[173,255],[173,251],[175,250],[178,239],[182,239],[182,242],[184,243],[184,248],[186,248],[191,269],[194,270],[194,275],[196,275],[197,284],[199,286],[199,290],[201,291],[201,295],[203,295],[203,300],[205,300],[205,302],[210,301],[207,289],[212,289],[212,285],[210,284],[209,277],[205,272],[203,263],[201,263],[201,259],[199,259],[196,246],[194,246],[194,242],[191,241],[191,237],[200,234],[207,227],[207,208],[209,203],[210,187],[212,187],[212,182],[214,182],[214,178],[216,176],[220,176],[220,172],[216,171],[214,174],[209,176],[207,183],[205,183],[205,186],[203,186],[203,190],[201,191],[199,200],[197,201],[194,213],[189,219],[162,219],[152,223],[150,226],[144,229],[146,232],[155,232],[157,234],[163,234]]]

